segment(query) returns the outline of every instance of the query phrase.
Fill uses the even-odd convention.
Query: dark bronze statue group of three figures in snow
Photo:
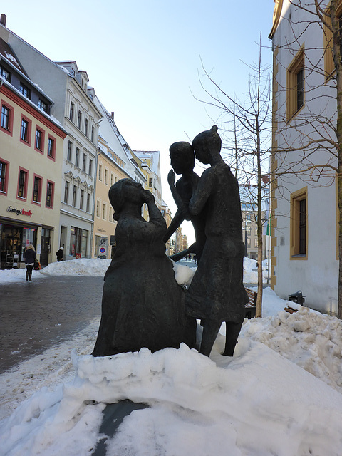
[[[151,192],[134,180],[116,182],[109,191],[117,249],[103,286],[102,316],[93,356],[109,356],[142,347],[152,352],[196,346],[196,320],[203,326],[199,352],[209,356],[226,322],[225,356],[233,356],[248,296],[243,285],[244,244],[239,185],[220,155],[217,126],[192,141],[170,147],[174,171],[168,175],[177,204],[167,228]],[[195,156],[210,165],[201,177]],[[182,175],[175,183],[175,173]],[[147,204],[149,221],[141,216]],[[195,229],[195,244],[172,259],[193,252],[197,271],[188,290],[175,281],[165,242],[185,220]]]

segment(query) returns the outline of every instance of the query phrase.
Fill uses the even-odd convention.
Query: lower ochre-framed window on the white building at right
[[[304,187],[291,195],[291,259],[307,259],[307,232],[307,187]]]

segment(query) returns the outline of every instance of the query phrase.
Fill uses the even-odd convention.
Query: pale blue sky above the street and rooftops
[[[272,0],[16,0],[0,12],[48,58],[76,60],[87,71],[133,150],[160,150],[162,193],[175,213],[168,148],[213,125],[192,95],[203,96],[201,59],[225,91],[242,95],[242,61],[257,61],[260,32],[263,61],[271,64],[273,9]]]

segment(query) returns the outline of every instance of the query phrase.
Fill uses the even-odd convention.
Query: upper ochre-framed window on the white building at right
[[[287,70],[287,119],[304,106],[304,49],[301,49]]]

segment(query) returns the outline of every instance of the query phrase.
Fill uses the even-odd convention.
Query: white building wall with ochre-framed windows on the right
[[[326,141],[335,138],[336,88],[325,32],[317,16],[276,1],[271,286],[282,298],[301,290],[308,306],[336,315],[337,160]]]

